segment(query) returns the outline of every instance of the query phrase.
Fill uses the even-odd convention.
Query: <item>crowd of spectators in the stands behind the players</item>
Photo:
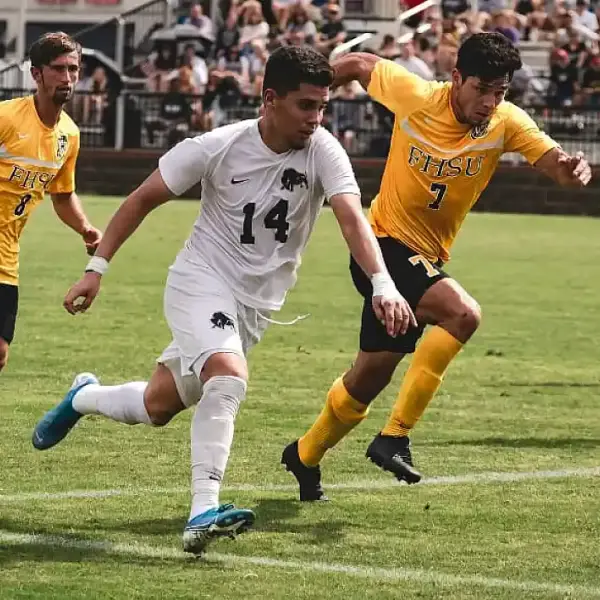
[[[399,12],[421,1],[400,0]],[[544,0],[510,1],[441,0],[406,20],[397,35],[383,36],[376,47],[362,49],[424,79],[447,80],[469,35],[498,31],[521,46],[547,49],[544,73],[525,60],[515,74],[511,100],[553,107],[600,104],[600,4],[597,16],[590,0],[554,0],[548,5]],[[219,10],[222,17],[211,19],[203,5],[185,6],[177,27],[187,28],[187,35],[153,39],[153,50],[140,65],[146,91],[156,94],[156,110],[144,122],[150,144],[159,132],[172,144],[191,131],[254,116],[265,64],[274,49],[310,44],[329,56],[348,39],[339,0],[221,0]],[[100,123],[109,91],[103,69],[88,73],[80,89],[87,94],[74,107],[77,116],[84,123]],[[364,95],[352,83],[332,97],[351,101]],[[372,129],[374,119],[385,121],[386,115],[372,103],[333,102],[325,124],[351,151],[357,131],[361,126]]]

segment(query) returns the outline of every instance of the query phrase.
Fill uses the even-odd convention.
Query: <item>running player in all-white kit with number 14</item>
[[[173,341],[149,383],[102,386],[94,375],[80,374],[33,433],[34,446],[44,450],[83,415],[160,426],[195,406],[187,552],[202,553],[211,539],[240,533],[254,521],[250,510],[219,505],[234,420],[246,395],[245,356],[294,285],[324,199],[372,284],[373,311],[386,331],[403,334],[416,326],[361,210],[348,156],[319,127],[332,82],[329,62],[315,50],[274,52],[264,76],[264,116],[184,140],[167,152],[112,217],[86,273],[65,298],[71,314],[88,309],[109,261],[146,215],[202,182],[202,211],[166,283]]]

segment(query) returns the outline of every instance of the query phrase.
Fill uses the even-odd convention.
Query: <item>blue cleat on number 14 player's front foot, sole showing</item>
[[[254,523],[251,510],[235,508],[233,504],[221,504],[190,519],[183,530],[183,551],[202,554],[215,538],[235,538]]]

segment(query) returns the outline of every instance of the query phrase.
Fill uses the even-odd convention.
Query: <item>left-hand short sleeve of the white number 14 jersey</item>
[[[173,194],[180,196],[208,175],[210,142],[210,134],[187,138],[161,156],[158,170]]]

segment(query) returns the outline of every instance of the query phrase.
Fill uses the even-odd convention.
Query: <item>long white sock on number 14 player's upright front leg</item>
[[[245,397],[246,382],[239,377],[211,377],[204,384],[204,393],[192,417],[190,519],[219,506],[221,480],[233,441],[233,423]]]

